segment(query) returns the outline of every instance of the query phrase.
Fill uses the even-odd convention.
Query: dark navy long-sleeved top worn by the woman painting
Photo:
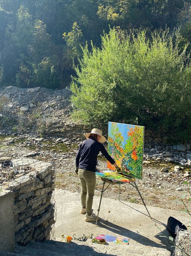
[[[79,146],[76,155],[76,167],[95,172],[97,157],[100,151],[111,164],[115,163],[114,159],[107,153],[103,144],[96,139],[86,139]]]

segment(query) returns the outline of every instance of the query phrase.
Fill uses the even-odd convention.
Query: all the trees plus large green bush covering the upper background
[[[71,85],[73,117],[191,134],[189,0],[0,0],[0,87]]]

